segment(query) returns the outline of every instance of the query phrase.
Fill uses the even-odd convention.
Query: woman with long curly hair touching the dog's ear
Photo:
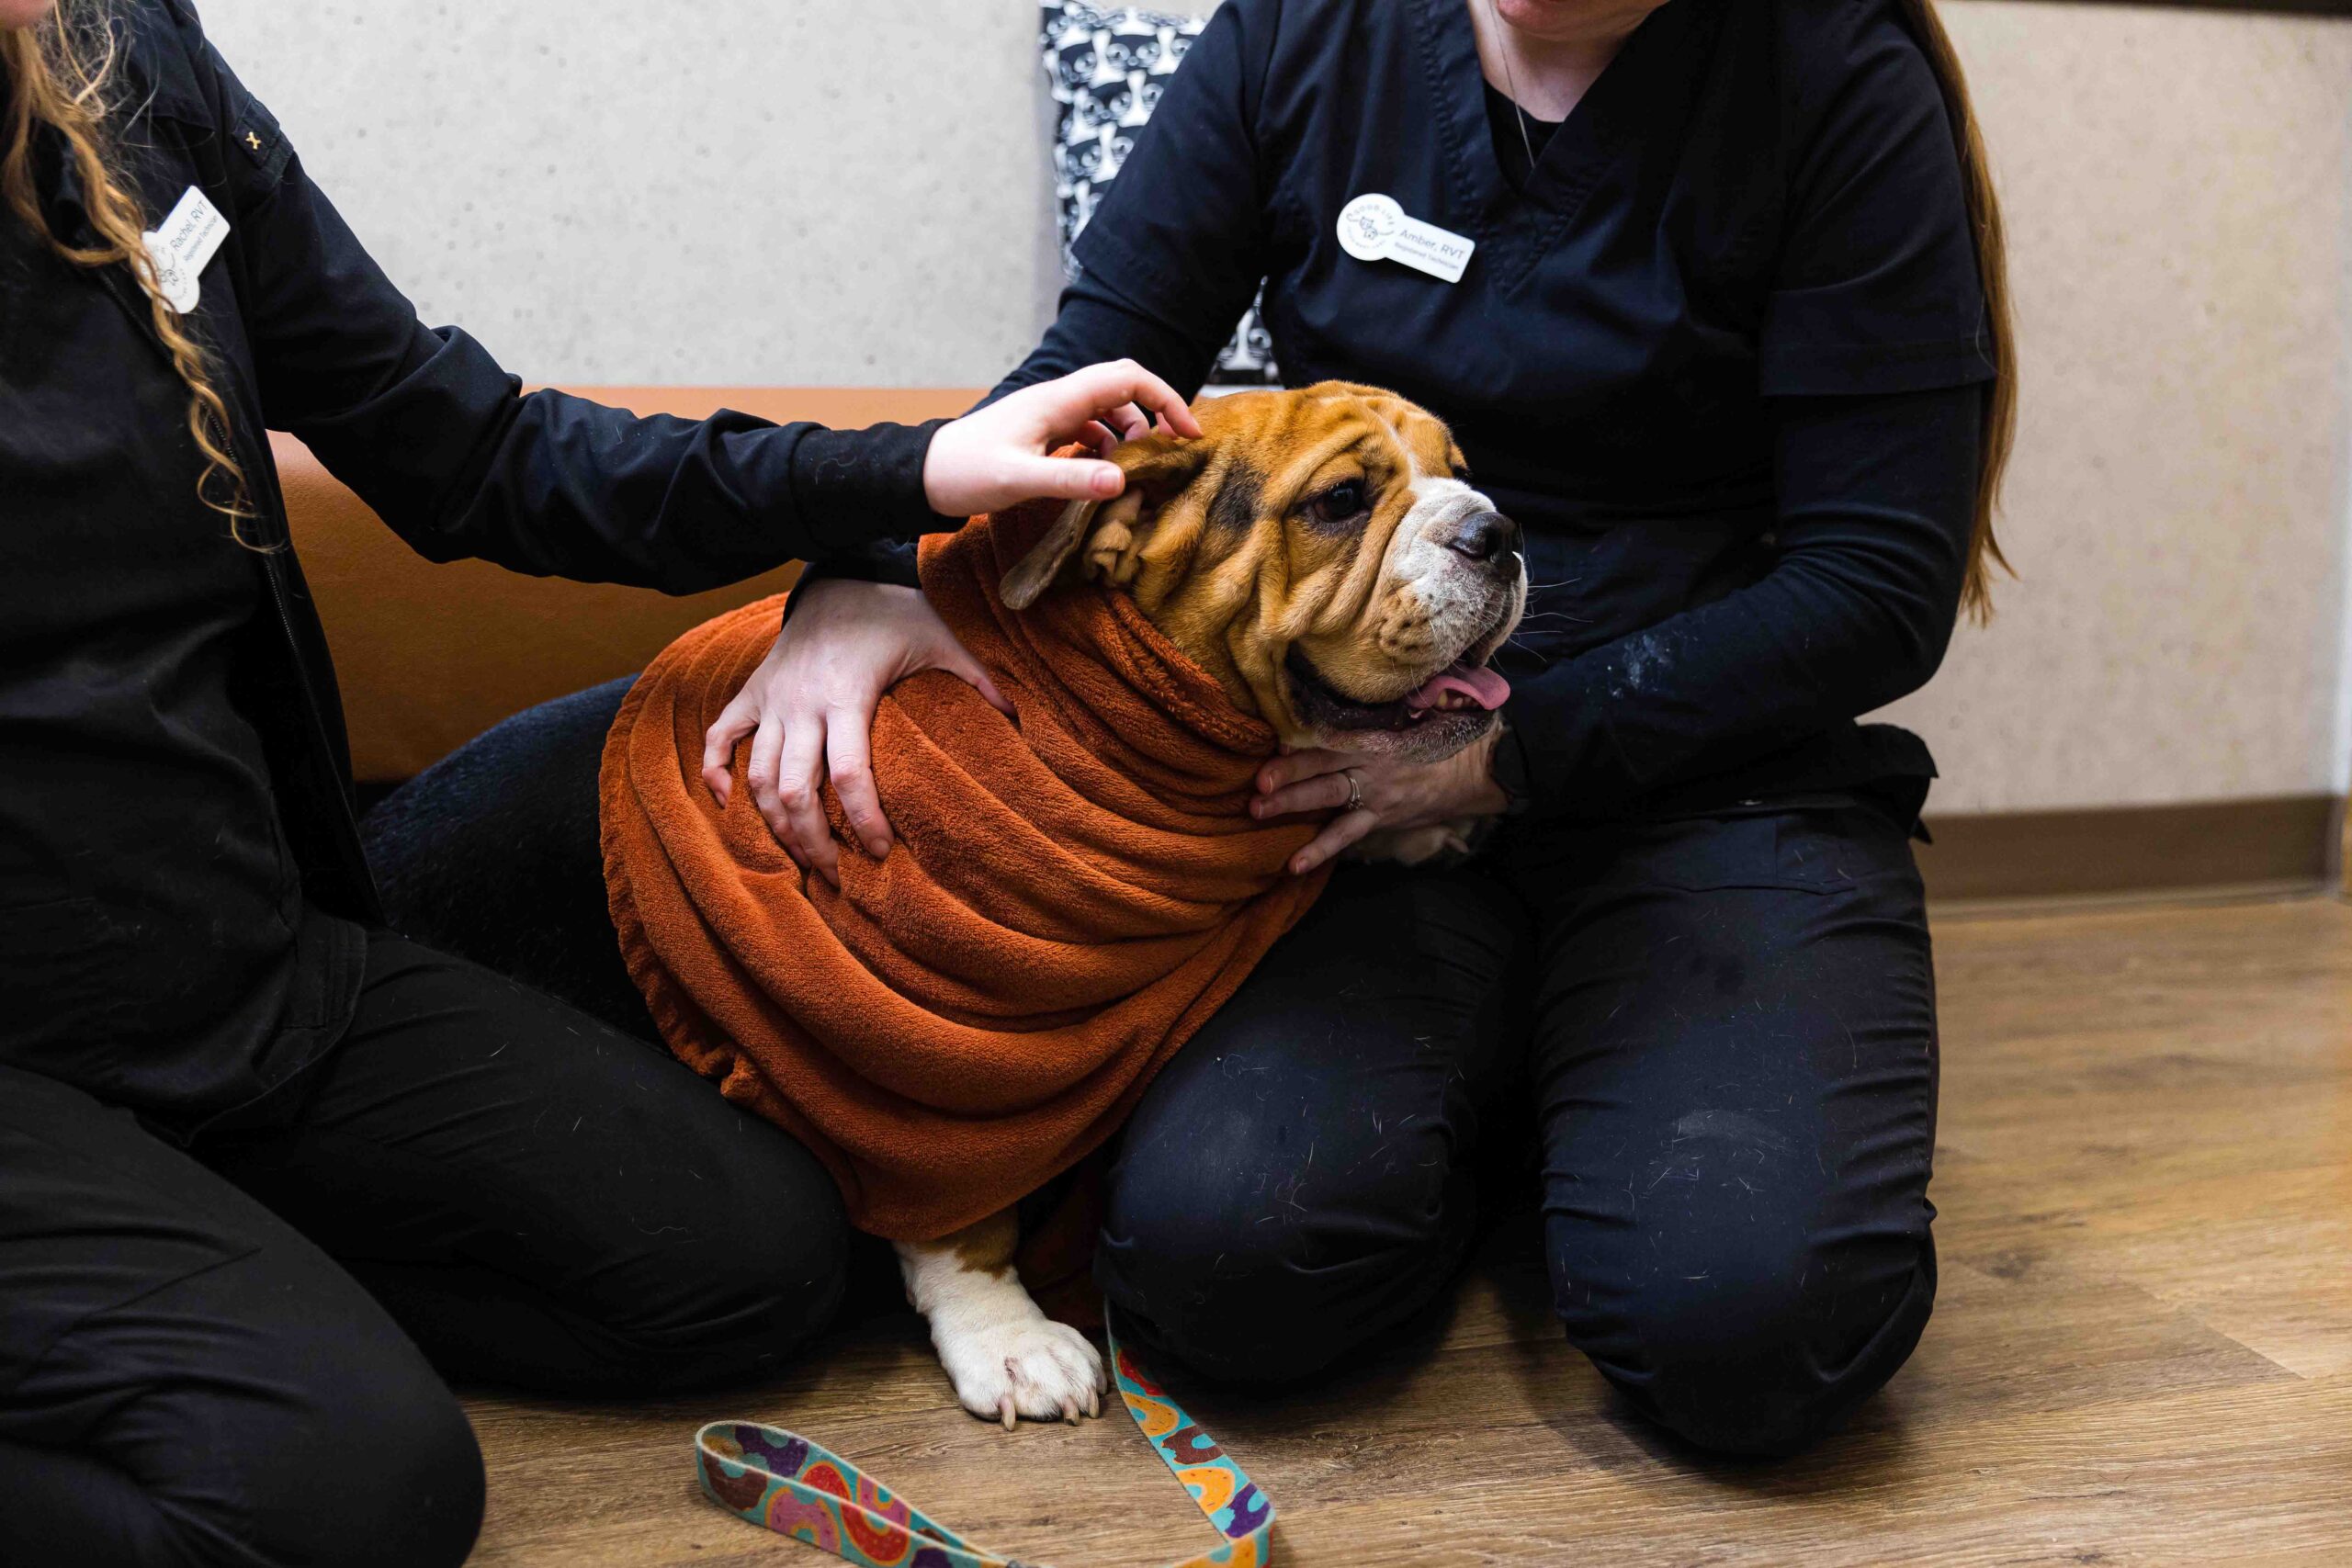
[[[1190,416],[1131,364],[863,433],[522,397],[183,0],[0,0],[0,1561],[456,1563],[442,1375],[757,1373],[844,1229],[663,1053],[386,931],[261,433],[435,559],[689,592],[1112,494],[1044,454]]]

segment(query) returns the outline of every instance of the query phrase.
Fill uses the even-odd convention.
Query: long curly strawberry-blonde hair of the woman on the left
[[[188,334],[165,296],[155,266],[141,240],[139,197],[115,172],[108,134],[108,87],[113,82],[118,40],[103,0],[59,0],[38,26],[0,31],[0,80],[7,85],[7,120],[0,125],[0,197],[19,219],[33,226],[49,249],[80,268],[129,268],[148,299],[155,336],[172,355],[172,367],[188,383],[188,433],[205,456],[195,494],[205,505],[228,517],[238,543],[252,545],[245,524],[254,510],[247,501],[245,470],[230,451],[228,404],[212,386],[205,348]],[[82,181],[82,205],[99,242],[68,244],[49,230],[33,186],[33,134],[49,127],[66,143]]]

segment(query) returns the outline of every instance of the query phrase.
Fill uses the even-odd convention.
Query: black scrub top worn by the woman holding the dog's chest
[[[1924,780],[1853,719],[1952,632],[1992,357],[1898,7],[1670,0],[1524,165],[1468,0],[1225,0],[1007,388],[1197,386],[1263,277],[1287,383],[1430,407],[1526,527],[1498,773],[1534,816]],[[1348,256],[1364,193],[1475,240],[1461,282]]]

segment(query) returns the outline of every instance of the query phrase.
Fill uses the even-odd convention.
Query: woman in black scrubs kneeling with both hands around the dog
[[[1472,240],[1461,280],[1352,256],[1369,193]],[[1472,1157],[1531,1105],[1569,1338],[1693,1443],[1806,1446],[1936,1293],[1933,764],[1856,717],[1983,602],[2009,440],[1997,214],[1926,2],[1225,0],[1077,259],[1007,388],[1110,353],[1197,386],[1263,277],[1284,378],[1451,421],[1534,583],[1510,733],[1357,764],[1310,858],[1465,811],[1491,844],[1343,867],[1167,1067],[1105,1293],[1202,1371],[1312,1375],[1444,1286]],[[924,625],[809,588],[739,701],[802,858]],[[1265,809],[1343,804],[1343,762],[1268,766]]]

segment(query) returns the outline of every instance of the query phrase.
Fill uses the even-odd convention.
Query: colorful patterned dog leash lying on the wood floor
[[[1183,1408],[1120,1349],[1108,1312],[1110,1373],[1136,1427],[1225,1537],[1171,1568],[1263,1568],[1272,1561],[1275,1505]],[[823,1547],[858,1568],[1021,1568],[894,1497],[849,1460],[809,1439],[750,1420],[715,1420],[694,1434],[694,1469],[710,1500],[776,1535]]]

